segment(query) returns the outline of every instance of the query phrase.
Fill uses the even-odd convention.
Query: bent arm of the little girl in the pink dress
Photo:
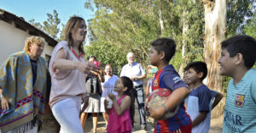
[[[129,108],[131,105],[131,97],[129,96],[125,96],[122,99],[120,106],[117,103],[116,97],[112,93],[110,93],[108,97],[113,100],[113,108],[118,115],[122,115],[125,112],[125,110]]]

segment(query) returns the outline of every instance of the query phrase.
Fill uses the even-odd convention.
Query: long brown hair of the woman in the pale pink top
[[[73,16],[72,18],[68,19],[64,32],[64,39],[65,41],[67,41],[68,47],[73,46],[73,38],[75,37],[75,31],[79,29],[81,21],[84,21],[84,19],[78,16]],[[79,44],[79,52],[84,53],[82,42]]]

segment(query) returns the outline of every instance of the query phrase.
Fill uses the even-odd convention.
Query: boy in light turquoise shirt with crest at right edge
[[[224,133],[256,132],[256,42],[251,36],[233,36],[221,42],[220,75],[232,77],[224,109]]]

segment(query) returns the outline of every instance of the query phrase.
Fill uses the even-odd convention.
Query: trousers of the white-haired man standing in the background
[[[140,114],[140,125],[145,126],[146,118],[145,118],[145,109],[144,109],[143,86],[133,88],[133,98],[131,98],[131,106],[134,106],[135,98],[137,99],[138,112]],[[135,116],[135,114],[131,113],[131,117],[133,118],[131,120],[134,120],[134,116]]]

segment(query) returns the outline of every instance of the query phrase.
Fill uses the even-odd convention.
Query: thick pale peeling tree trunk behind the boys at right
[[[202,0],[205,8],[205,42],[204,58],[207,64],[208,75],[206,79],[207,86],[224,94],[222,87],[222,77],[219,75],[218,58],[221,53],[220,42],[225,39],[226,22],[226,0]],[[224,112],[224,98],[218,103],[219,114]],[[213,110],[213,111],[214,111]],[[217,113],[217,112],[216,112]],[[214,114],[213,115],[217,115]]]

